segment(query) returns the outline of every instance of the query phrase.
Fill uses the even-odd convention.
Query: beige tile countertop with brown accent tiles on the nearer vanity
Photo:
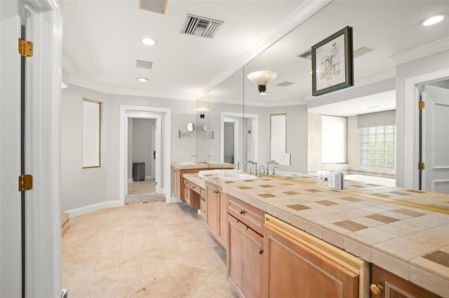
[[[347,181],[345,190],[338,191],[314,185],[314,179],[203,177],[290,225],[449,297],[449,215],[380,200],[405,196],[419,202],[425,197],[447,205],[448,194]]]

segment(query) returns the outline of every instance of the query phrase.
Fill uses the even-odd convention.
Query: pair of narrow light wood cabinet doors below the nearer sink
[[[218,242],[227,248],[227,194],[206,182],[206,223]]]

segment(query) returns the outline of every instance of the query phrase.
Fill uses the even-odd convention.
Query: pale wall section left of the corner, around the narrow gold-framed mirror
[[[102,102],[102,166],[82,169],[83,98]],[[61,208],[74,208],[107,201],[107,169],[105,158],[109,147],[109,102],[106,94],[71,85],[62,90],[61,101]],[[118,159],[117,159],[118,160]],[[118,199],[118,197],[117,197]]]

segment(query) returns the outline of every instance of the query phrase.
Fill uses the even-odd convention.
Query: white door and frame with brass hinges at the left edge
[[[27,94],[26,171],[34,176],[27,197],[27,297],[59,297],[61,294],[61,211],[60,211],[60,99],[62,82],[62,22],[57,0],[0,1],[1,32],[1,127],[0,176],[0,296],[20,297],[20,6],[30,11],[29,24],[34,54]],[[7,17],[6,17],[7,16]],[[29,62],[27,62],[29,63]],[[19,146],[19,147],[18,147]],[[19,222],[17,222],[19,220]],[[18,242],[18,243],[17,243]],[[18,260],[16,258],[18,257]]]

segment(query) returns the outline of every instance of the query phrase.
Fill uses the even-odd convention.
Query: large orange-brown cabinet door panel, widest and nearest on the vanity
[[[264,297],[358,297],[358,274],[264,228]]]

